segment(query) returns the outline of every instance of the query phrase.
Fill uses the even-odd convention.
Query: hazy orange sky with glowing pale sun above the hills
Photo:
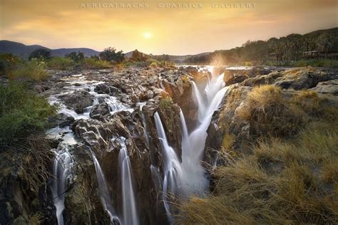
[[[182,3],[195,5],[183,8]],[[245,5],[234,8],[234,3]],[[124,52],[137,48],[184,55],[336,27],[337,4],[338,0],[0,0],[0,39],[48,48],[101,51],[113,46]]]

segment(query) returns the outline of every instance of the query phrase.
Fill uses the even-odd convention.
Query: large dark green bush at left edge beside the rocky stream
[[[1,143],[21,140],[43,130],[48,117],[56,112],[45,98],[16,83],[0,84],[0,105]]]

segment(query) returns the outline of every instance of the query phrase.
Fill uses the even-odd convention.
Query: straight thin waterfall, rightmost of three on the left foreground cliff
[[[132,171],[128,156],[126,138],[118,137],[117,141],[121,145],[118,159],[121,169],[122,199],[123,199],[123,224],[137,225],[138,213],[136,210],[135,194],[133,190]]]

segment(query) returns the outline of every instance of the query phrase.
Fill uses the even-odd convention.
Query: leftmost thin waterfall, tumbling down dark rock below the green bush
[[[53,161],[53,176],[55,180],[53,180],[51,187],[58,225],[64,224],[63,210],[65,209],[65,192],[71,180],[72,167],[73,159],[68,152],[68,147],[66,145],[60,145]]]

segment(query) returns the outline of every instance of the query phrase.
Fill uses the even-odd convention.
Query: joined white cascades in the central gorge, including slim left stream
[[[207,68],[212,76],[208,78],[208,83],[204,90],[200,90],[198,85],[192,81],[193,98],[198,105],[198,125],[195,130],[188,133],[187,124],[182,110],[180,111],[180,122],[182,125],[182,163],[172,147],[168,144],[165,130],[158,112],[155,112],[155,126],[158,138],[163,151],[163,202],[165,211],[171,221],[170,207],[168,204],[168,194],[181,194],[189,196],[191,194],[205,194],[208,192],[209,180],[205,174],[201,161],[204,155],[205,140],[207,130],[210,125],[212,114],[222,103],[222,99],[227,91],[223,81],[224,74],[215,75],[212,67]]]

